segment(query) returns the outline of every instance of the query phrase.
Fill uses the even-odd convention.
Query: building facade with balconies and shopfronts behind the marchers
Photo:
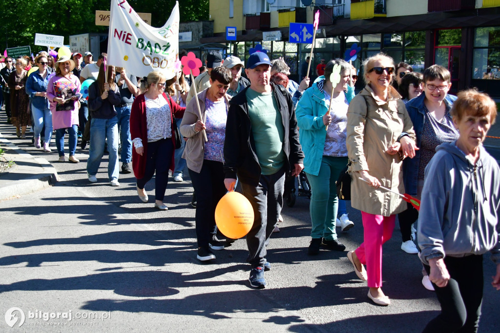
[[[383,51],[419,71],[445,66],[452,92],[475,86],[500,98],[500,0],[210,0],[213,36],[200,42],[226,44],[227,53],[245,60],[260,43],[298,80],[311,45],[289,42],[289,23],[312,23],[316,10],[312,68],[321,58],[343,58],[356,43],[359,70],[362,59]],[[236,27],[236,41],[226,40],[226,26]]]

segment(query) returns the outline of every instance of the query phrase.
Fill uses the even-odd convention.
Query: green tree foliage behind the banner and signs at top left
[[[30,45],[35,53],[35,33],[64,36],[87,32],[106,32],[95,25],[95,10],[109,10],[110,0],[0,0],[0,49]],[[128,0],[137,12],[151,13],[151,24],[161,26],[170,16],[175,0]],[[180,0],[180,21],[208,19],[208,0]]]

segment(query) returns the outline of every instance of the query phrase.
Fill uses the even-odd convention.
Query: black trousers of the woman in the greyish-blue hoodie
[[[445,287],[434,283],[441,313],[427,323],[423,332],[476,332],[481,315],[482,255],[444,258],[450,279]],[[430,267],[423,265],[427,273]]]

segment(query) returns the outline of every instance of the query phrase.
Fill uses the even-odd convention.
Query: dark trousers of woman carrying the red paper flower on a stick
[[[203,165],[199,173],[189,168],[187,170],[196,194],[194,218],[198,247],[208,247],[212,235],[217,232],[215,207],[227,191],[224,186],[223,164],[222,162],[203,159]]]

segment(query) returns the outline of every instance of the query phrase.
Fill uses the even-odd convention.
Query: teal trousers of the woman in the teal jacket
[[[347,157],[324,156],[319,173],[307,173],[311,185],[310,201],[311,238],[337,239],[335,220],[337,218],[338,197],[335,180],[347,164]]]

